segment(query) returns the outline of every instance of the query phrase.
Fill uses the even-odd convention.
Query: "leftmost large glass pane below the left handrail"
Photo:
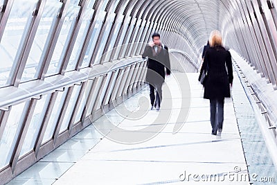
[[[24,119],[24,107],[26,109],[28,103],[13,105],[8,116],[3,136],[0,139],[0,169],[8,166],[12,151],[15,148],[19,129]]]

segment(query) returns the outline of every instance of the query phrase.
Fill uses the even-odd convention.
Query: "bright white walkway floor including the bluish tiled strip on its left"
[[[160,112],[149,110],[147,88],[125,100],[10,184],[249,184],[233,101],[222,134],[211,135],[197,75],[167,78]]]

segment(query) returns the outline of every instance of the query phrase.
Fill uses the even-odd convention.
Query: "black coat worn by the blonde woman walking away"
[[[198,80],[200,80],[207,64],[208,76],[204,82],[204,98],[210,100],[225,97],[230,98],[230,84],[233,83],[231,53],[226,51],[222,46],[215,46],[208,49]]]

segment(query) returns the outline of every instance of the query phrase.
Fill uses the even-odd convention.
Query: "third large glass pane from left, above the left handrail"
[[[80,6],[69,6],[69,10],[67,10],[66,16],[64,17],[64,24],[62,25],[62,30],[60,32],[59,38],[57,39],[57,44],[55,46],[46,76],[59,73],[63,62],[63,56],[66,52],[66,46],[69,43],[69,39],[71,37],[79,10]]]

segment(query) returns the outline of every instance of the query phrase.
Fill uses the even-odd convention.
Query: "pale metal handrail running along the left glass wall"
[[[16,105],[44,94],[50,94],[64,87],[80,84],[80,82],[92,80],[99,76],[105,76],[111,71],[116,71],[117,69],[122,69],[139,62],[145,62],[145,60],[138,56],[125,58],[123,60],[115,60],[114,62],[97,64],[80,71],[69,71],[64,76],[55,75],[47,77],[45,80],[23,82],[19,87],[3,87],[0,89],[0,109],[8,111],[11,105]]]

